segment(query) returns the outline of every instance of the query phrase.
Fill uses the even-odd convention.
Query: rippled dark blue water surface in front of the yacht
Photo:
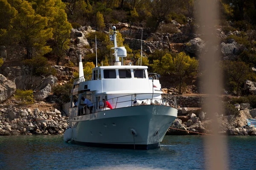
[[[165,136],[162,150],[86,147],[63,136],[0,136],[0,170],[204,170],[205,136]],[[256,136],[228,136],[230,170],[256,170]]]

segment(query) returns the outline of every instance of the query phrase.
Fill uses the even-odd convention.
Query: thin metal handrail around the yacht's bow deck
[[[152,98],[152,97],[150,97],[150,98],[139,98],[139,95],[146,95],[146,94],[150,94],[151,95],[152,93],[128,94],[128,95],[124,95],[124,96],[118,96],[118,97],[111,98],[112,100],[116,99],[115,107],[113,109],[116,109],[116,106],[117,106],[118,103],[124,103],[124,102],[130,102],[130,101],[131,101],[131,105],[125,106],[125,107],[131,107],[131,106],[133,106],[133,102],[135,100],[147,100],[147,101],[151,100],[152,102],[150,103],[150,105],[155,105],[153,103],[153,99],[157,99],[158,101],[159,100],[161,101],[161,104],[158,104],[158,105],[168,105],[170,107],[177,108],[176,97],[172,96],[171,94],[161,94],[161,98]],[[136,95],[137,99],[133,99],[133,96],[135,96],[135,95]],[[126,97],[126,96],[131,96],[131,100],[128,99],[128,100],[125,100],[125,101],[118,102],[119,98]],[[174,100],[171,99],[170,96],[172,96],[174,98]],[[107,101],[111,100],[111,99],[107,99]],[[98,108],[96,108],[96,103],[99,103],[99,102],[102,102],[102,100],[101,101],[97,101],[97,102],[93,102],[92,104],[90,104],[90,105],[93,105],[93,111],[94,112],[96,111],[96,109],[99,109],[99,105],[98,105]],[[80,106],[83,107],[83,105],[80,105]],[[125,108],[125,107],[120,107],[120,108]]]

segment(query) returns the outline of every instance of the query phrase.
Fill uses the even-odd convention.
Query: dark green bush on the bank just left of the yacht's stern
[[[56,85],[52,88],[52,92],[57,95],[62,102],[70,102],[70,93],[73,88],[73,83],[66,83],[64,85]]]

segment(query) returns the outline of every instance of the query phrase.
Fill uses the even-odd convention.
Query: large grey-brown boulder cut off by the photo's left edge
[[[0,103],[9,99],[16,91],[16,85],[14,82],[7,80],[2,74],[0,74]]]

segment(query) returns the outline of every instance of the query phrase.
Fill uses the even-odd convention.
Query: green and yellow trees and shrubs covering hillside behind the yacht
[[[128,52],[126,62],[133,65],[139,63],[141,51],[125,44],[125,38],[138,39],[131,34],[132,29],[143,32],[143,40],[162,41],[169,35],[182,37],[184,31],[179,28],[188,27],[184,42],[171,42],[168,48],[143,51],[142,65],[148,65],[149,72],[157,72],[179,89],[179,94],[187,85],[198,86],[204,70],[199,70],[198,54],[192,52],[190,40],[198,38],[196,28],[200,27],[195,18],[194,6],[199,0],[0,0],[0,45],[23,48],[19,51],[22,65],[31,68],[35,76],[55,75],[56,71],[49,66],[55,65],[75,67],[78,62],[70,62],[70,51],[77,54],[81,48],[88,49],[84,54],[85,75],[90,73],[95,60],[95,34],[99,43],[98,65],[111,65],[111,47],[108,32],[111,24],[128,23],[120,27],[118,45],[125,46]],[[216,29],[222,46],[234,44],[235,52],[219,61],[219,69],[223,70],[224,89],[230,94],[247,95],[244,90],[246,80],[256,82],[253,67],[256,65],[256,0],[216,0],[220,8],[219,25]],[[87,44],[80,48],[74,47],[80,39],[71,39],[72,28],[80,29],[90,26],[96,32],[86,35]],[[122,30],[121,30],[122,29]],[[129,34],[122,35],[122,31]],[[141,34],[141,33],[140,33]],[[144,34],[146,36],[144,37]],[[159,37],[163,38],[159,38]],[[161,39],[161,40],[160,40]],[[203,36],[199,38],[204,40]],[[171,49],[171,44],[184,46],[187,50]],[[93,52],[90,52],[93,49]],[[221,48],[222,50],[222,48]],[[230,53],[228,51],[228,53]],[[67,60],[68,58],[68,62]],[[77,58],[76,58],[77,59]],[[7,63],[8,57],[0,58],[0,67]],[[38,62],[40,61],[40,62]],[[72,60],[73,61],[73,60]],[[73,79],[78,74],[74,71]],[[175,83],[174,83],[175,82]],[[172,83],[174,83],[172,85]],[[26,89],[29,90],[29,89]],[[58,91],[55,89],[55,91]],[[194,91],[200,92],[200,87]]]

